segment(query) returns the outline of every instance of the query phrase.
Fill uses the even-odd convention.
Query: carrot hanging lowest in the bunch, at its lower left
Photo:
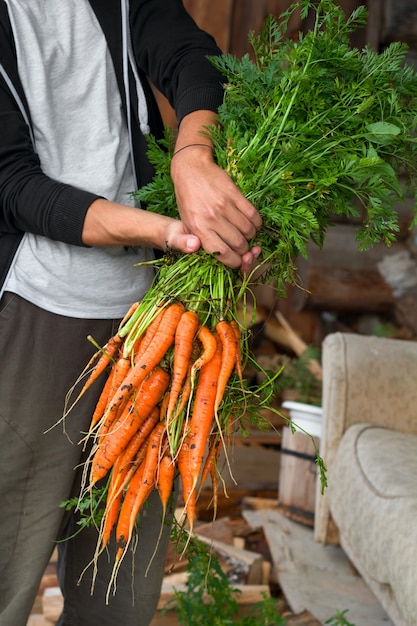
[[[150,436],[146,457],[127,488],[116,527],[116,541],[119,550],[124,550],[129,544],[136,518],[155,487],[161,439],[164,432],[165,424],[159,422]],[[120,554],[119,551],[118,553]]]

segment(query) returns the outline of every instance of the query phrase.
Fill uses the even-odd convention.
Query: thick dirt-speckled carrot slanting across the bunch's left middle
[[[140,424],[161,400],[168,388],[169,379],[169,374],[164,369],[155,367],[143,381],[136,398],[129,402],[120,418],[113,423],[111,431],[101,437],[92,460],[90,475],[92,485],[107,474]]]

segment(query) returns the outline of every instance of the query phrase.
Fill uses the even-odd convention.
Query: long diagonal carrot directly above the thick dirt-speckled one
[[[151,344],[141,357],[137,359],[134,366],[130,368],[126,378],[111,399],[106,413],[117,414],[146,375],[165,356],[167,350],[174,343],[175,330],[183,311],[183,305],[177,302],[165,309]]]

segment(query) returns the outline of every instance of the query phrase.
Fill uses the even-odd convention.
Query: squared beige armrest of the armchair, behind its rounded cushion
[[[417,434],[417,342],[350,333],[323,341],[320,454],[328,472],[344,432],[366,422]],[[337,543],[326,493],[318,488],[316,541]]]

